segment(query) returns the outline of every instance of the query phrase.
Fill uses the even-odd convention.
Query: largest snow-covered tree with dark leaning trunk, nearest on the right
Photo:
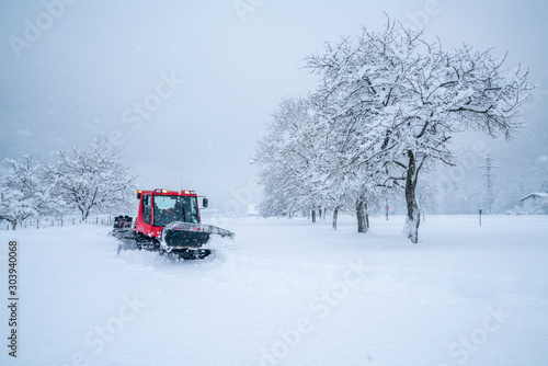
[[[380,33],[364,28],[307,58],[322,77],[320,93],[333,118],[344,123],[346,134],[362,134],[351,165],[383,161],[387,179],[404,182],[413,243],[420,226],[419,175],[435,162],[453,164],[452,136],[473,129],[511,139],[523,127],[528,71],[505,70],[503,62],[491,49],[465,45],[447,52],[390,20]]]

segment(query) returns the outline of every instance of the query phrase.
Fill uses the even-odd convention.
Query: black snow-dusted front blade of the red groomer
[[[209,241],[209,236],[218,235],[233,239],[235,233],[213,225],[175,221],[162,230],[161,243],[164,250],[197,249]]]

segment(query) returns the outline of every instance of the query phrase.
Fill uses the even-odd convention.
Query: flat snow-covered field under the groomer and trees
[[[548,365],[548,216],[236,219],[206,261],[110,228],[0,231],[1,365]],[[8,241],[18,239],[18,357]]]

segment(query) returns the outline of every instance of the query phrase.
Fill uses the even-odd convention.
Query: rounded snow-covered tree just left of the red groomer
[[[60,149],[54,161],[44,161],[43,169],[69,210],[78,210],[82,220],[92,210],[119,211],[133,201],[136,175],[122,163],[121,148],[95,137],[91,146]]]

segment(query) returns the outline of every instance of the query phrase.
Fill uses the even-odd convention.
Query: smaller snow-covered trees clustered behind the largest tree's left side
[[[352,164],[352,153],[365,153],[356,146],[359,139],[341,130],[342,123],[322,103],[316,95],[287,98],[273,113],[254,158],[264,185],[259,208],[263,215],[311,210],[312,221],[317,210],[330,209],[335,228],[340,210],[353,211],[358,231],[366,232],[378,170]]]

